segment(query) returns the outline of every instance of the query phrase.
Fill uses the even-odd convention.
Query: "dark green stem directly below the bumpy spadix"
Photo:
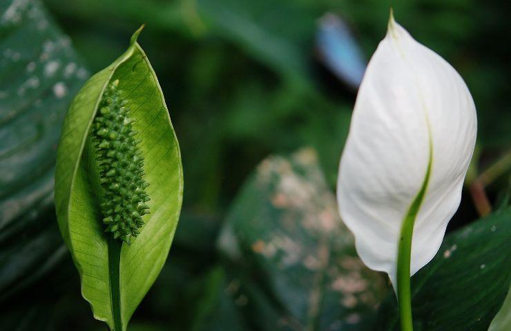
[[[108,239],[108,270],[110,272],[110,299],[112,300],[113,329],[122,331],[121,292],[119,283],[119,265],[121,261],[122,241]]]

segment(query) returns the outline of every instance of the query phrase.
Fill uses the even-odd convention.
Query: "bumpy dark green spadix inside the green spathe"
[[[137,132],[131,128],[133,119],[128,117],[118,85],[119,81],[113,81],[104,92],[90,134],[104,189],[100,206],[105,232],[129,244],[144,225],[142,216],[149,213],[145,191],[149,184],[143,179],[144,159],[134,137]]]

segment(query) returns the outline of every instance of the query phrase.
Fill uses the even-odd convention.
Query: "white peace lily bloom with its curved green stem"
[[[360,259],[387,272],[401,330],[412,330],[410,277],[440,248],[476,141],[458,72],[390,15],[369,61],[340,160],[340,215]]]

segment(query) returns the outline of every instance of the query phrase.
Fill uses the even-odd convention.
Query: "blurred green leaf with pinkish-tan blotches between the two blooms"
[[[361,330],[385,288],[356,257],[311,149],[260,163],[228,214],[220,250],[253,330]]]

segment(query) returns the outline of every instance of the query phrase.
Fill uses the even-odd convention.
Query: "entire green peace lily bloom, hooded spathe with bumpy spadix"
[[[70,105],[57,150],[59,228],[94,317],[125,331],[164,265],[183,193],[180,148],[139,28]]]

